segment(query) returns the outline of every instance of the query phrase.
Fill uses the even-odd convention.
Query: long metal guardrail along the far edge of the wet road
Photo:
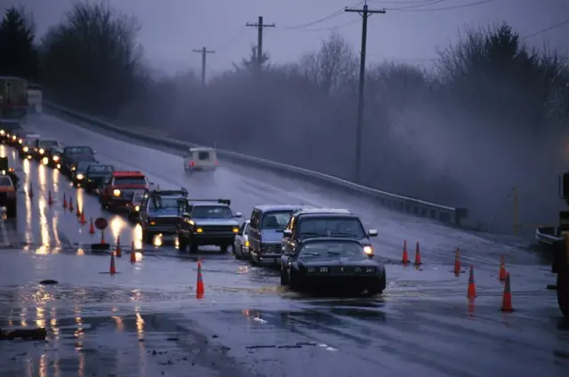
[[[44,100],[44,110],[51,111],[55,113],[55,115],[59,113],[60,115],[74,118],[78,121],[96,126],[105,131],[117,132],[121,135],[131,137],[135,140],[151,142],[154,145],[161,144],[166,148],[183,149],[185,151],[190,147],[196,147],[196,144],[189,142],[174,140],[171,138],[157,137],[156,135],[147,135],[141,132],[134,132],[128,128],[118,127],[115,124],[110,124],[93,116],[81,114],[75,110],[64,108],[60,105],[46,100]],[[341,178],[333,177],[332,175],[328,175],[322,172],[314,172],[297,166],[281,164],[275,161],[269,161],[253,156],[246,156],[228,150],[217,149],[217,153],[219,156],[228,158],[230,160],[235,160],[239,163],[254,164],[271,170],[293,173],[304,178],[309,178],[310,180],[317,180],[321,183],[332,183],[339,188],[348,189],[351,192],[359,192],[365,194],[368,197],[372,197],[376,199],[381,205],[389,209],[410,213],[419,217],[426,217],[435,221],[444,222],[449,225],[461,226],[461,221],[468,217],[468,210],[466,208],[453,208],[446,205],[429,203],[424,200],[415,199],[413,197],[403,197],[397,194],[381,191],[379,189],[358,185],[357,183],[350,182],[349,180],[343,180]]]

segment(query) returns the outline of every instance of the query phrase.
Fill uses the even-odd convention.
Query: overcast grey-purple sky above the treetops
[[[73,3],[0,0],[4,8],[22,4],[34,12],[39,34],[61,20]],[[359,51],[361,17],[357,13],[340,12],[310,25],[345,6],[356,5],[357,0],[108,0],[108,4],[138,18],[142,26],[140,43],[148,60],[169,73],[199,68],[200,56],[192,50],[202,46],[216,51],[208,56],[210,75],[230,68],[232,61],[246,56],[256,44],[256,29],[246,28],[245,23],[256,22],[258,16],[276,23],[276,28],[265,29],[263,43],[275,63],[296,60],[302,53],[317,49],[334,27]],[[429,64],[437,48],[455,40],[467,26],[506,20],[527,36],[569,20],[569,0],[370,0],[368,4],[370,9],[388,10],[369,19],[369,61]],[[567,52],[567,36],[569,22],[527,42],[541,46],[547,41],[549,47]]]

